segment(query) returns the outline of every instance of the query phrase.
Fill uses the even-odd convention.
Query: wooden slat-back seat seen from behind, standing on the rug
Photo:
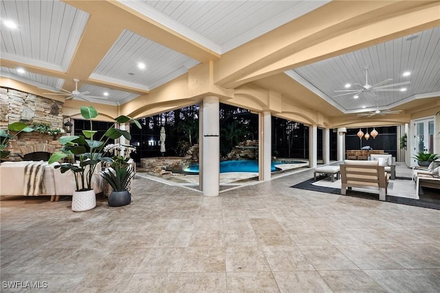
[[[340,165],[341,194],[347,194],[347,188],[377,188],[379,199],[385,200],[388,192],[389,175],[384,166],[379,166],[377,161],[345,160]]]

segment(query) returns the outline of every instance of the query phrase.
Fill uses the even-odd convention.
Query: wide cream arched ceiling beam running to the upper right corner
[[[439,1],[333,1],[224,54],[215,63],[214,82],[237,87],[427,30],[440,25],[439,9]]]

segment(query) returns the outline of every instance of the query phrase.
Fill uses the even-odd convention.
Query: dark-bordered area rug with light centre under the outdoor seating
[[[319,179],[319,178],[318,178]],[[315,181],[313,178],[301,182],[292,188],[304,189],[307,191],[318,191],[321,193],[341,194],[341,181],[331,182],[330,178],[323,178]],[[420,195],[420,197],[419,197]],[[440,197],[424,197],[423,190],[420,188],[419,195],[415,192],[415,182],[411,180],[392,180],[388,183],[388,194],[386,202],[395,204],[407,204],[410,206],[420,206],[423,208],[434,208],[440,210]],[[347,196],[362,197],[365,199],[379,200],[378,191],[363,188],[353,188],[347,191]]]

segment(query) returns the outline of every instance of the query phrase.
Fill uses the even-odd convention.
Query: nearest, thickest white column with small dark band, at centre
[[[205,196],[219,195],[220,184],[220,123],[219,98],[203,98],[202,190]]]

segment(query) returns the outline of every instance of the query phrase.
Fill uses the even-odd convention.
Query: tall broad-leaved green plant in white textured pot
[[[123,136],[126,140],[131,139],[128,131],[115,128],[115,124],[133,121],[137,127],[140,123],[128,116],[118,116],[115,123],[105,131],[99,140],[94,140],[97,131],[92,129],[92,120],[98,116],[98,111],[92,106],[80,107],[80,113],[85,120],[90,122],[90,130],[83,130],[83,135],[63,136],[58,139],[63,145],[61,152],[55,152],[49,159],[49,164],[67,159],[55,168],[61,173],[71,171],[75,176],[76,191],[72,195],[72,210],[79,212],[91,210],[96,206],[96,195],[92,188],[92,180],[99,162],[111,162],[111,158],[102,156],[102,149],[110,139],[117,139]]]

